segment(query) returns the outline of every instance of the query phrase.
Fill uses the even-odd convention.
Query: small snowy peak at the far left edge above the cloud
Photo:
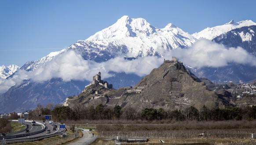
[[[7,78],[9,77],[11,74],[15,73],[16,71],[18,71],[18,69],[20,69],[20,67],[18,67],[15,64],[9,65],[9,66],[0,66],[0,78]]]

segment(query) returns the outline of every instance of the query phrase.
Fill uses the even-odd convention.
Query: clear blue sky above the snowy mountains
[[[0,66],[37,60],[87,39],[123,15],[193,34],[234,21],[256,22],[255,0],[0,0]]]

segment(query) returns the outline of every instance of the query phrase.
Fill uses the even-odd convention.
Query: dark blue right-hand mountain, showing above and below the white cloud
[[[256,57],[256,25],[233,29],[217,36],[212,41],[227,47],[242,47]],[[198,77],[207,77],[218,83],[228,81],[238,83],[240,80],[247,82],[256,78],[256,67],[245,64],[230,64],[219,68],[204,67],[197,69],[197,71],[192,70],[192,72]]]

